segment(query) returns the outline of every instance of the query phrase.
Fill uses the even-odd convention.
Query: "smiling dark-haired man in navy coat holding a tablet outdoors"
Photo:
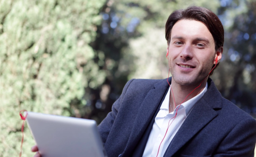
[[[218,17],[202,7],[174,11],[166,40],[172,77],[128,81],[98,126],[108,156],[253,157],[256,120],[208,78],[223,51]]]

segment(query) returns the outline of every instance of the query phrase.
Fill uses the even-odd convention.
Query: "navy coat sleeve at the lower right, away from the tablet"
[[[244,119],[223,139],[214,157],[254,157],[256,120]]]

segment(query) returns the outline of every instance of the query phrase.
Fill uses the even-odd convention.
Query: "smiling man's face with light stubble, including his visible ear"
[[[216,55],[215,52],[214,39],[204,23],[195,20],[177,21],[167,47],[172,78],[180,85],[198,84],[211,71],[217,55],[218,60],[221,59],[220,51]]]

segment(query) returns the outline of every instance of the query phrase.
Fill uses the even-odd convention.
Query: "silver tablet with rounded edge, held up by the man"
[[[106,157],[94,120],[35,112],[26,120],[42,157]]]

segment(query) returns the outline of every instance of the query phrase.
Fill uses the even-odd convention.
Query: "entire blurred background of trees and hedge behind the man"
[[[20,110],[99,124],[128,80],[166,78],[165,23],[190,5],[221,19],[223,57],[211,78],[255,118],[254,0],[0,0],[0,157],[19,154]],[[23,157],[34,144],[25,125]]]

